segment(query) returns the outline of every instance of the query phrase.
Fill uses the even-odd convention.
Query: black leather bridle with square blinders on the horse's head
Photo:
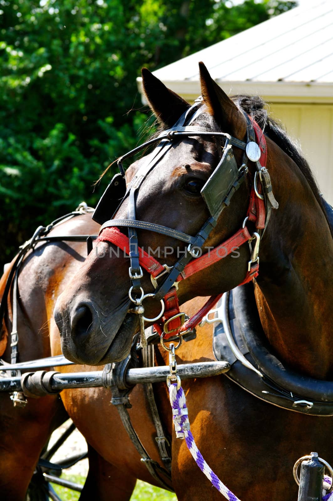
[[[216,226],[217,219],[220,216],[222,210],[229,205],[231,197],[245,180],[246,174],[248,172],[247,160],[249,157],[247,152],[249,151],[249,145],[252,147],[252,150],[254,149],[256,151],[256,156],[253,157],[252,155],[250,159],[253,161],[258,161],[260,158],[260,149],[255,142],[253,126],[246,114],[244,114],[244,116],[247,120],[247,141],[244,142],[230,136],[225,132],[214,132],[204,127],[192,125],[198,118],[198,116],[202,113],[202,111],[203,110],[201,102],[195,103],[181,116],[181,118],[171,129],[163,131],[156,138],[145,142],[144,144],[138,146],[137,148],[134,148],[130,152],[120,157],[118,160],[120,173],[116,174],[116,176],[112,179],[110,185],[100,199],[93,214],[93,219],[102,224],[100,231],[111,226],[128,227],[128,237],[130,242],[129,275],[131,280],[132,295],[140,294],[140,279],[142,278],[142,270],[139,264],[139,253],[137,250],[138,239],[136,229],[139,228],[147,229],[149,231],[156,231],[163,235],[171,236],[178,240],[184,241],[189,245],[188,253],[186,253],[177,261],[177,263],[173,266],[171,271],[168,272],[168,274],[165,274],[167,276],[164,277],[163,282],[156,288],[154,298],[160,300],[174,285],[177,277],[184,270],[184,267],[190,262],[190,260],[197,257],[198,250],[196,249],[200,249],[204,245],[210,232]],[[146,221],[138,221],[135,215],[135,200],[142,181],[155,167],[158,161],[170,150],[170,148],[174,145],[175,140],[177,141],[185,137],[196,136],[220,136],[225,139],[222,158],[213,174],[210,176],[205,186],[201,190],[201,194],[206,201],[211,216],[207,219],[196,236],[191,236],[181,231],[168,228],[166,226],[160,226],[158,224]],[[120,204],[118,203],[119,199],[112,199],[112,195],[114,196],[115,193],[119,193],[119,188],[123,188],[125,186],[124,169],[122,166],[123,160],[156,142],[159,142],[158,146],[152,151],[152,153],[148,155],[144,164],[136,172],[120,202],[121,204],[125,198],[128,198],[127,219],[111,218],[105,221],[105,214],[115,212],[116,209],[120,206]],[[232,152],[232,146],[236,146],[244,151],[243,162],[239,168]],[[269,204],[266,205],[268,206]],[[268,221],[268,217],[266,217],[266,221]]]

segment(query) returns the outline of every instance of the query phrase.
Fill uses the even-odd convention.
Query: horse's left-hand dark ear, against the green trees
[[[165,87],[147,68],[142,68],[142,86],[148,104],[157,120],[172,127],[190,107],[181,96]]]

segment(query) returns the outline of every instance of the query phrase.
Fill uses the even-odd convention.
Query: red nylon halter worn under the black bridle
[[[265,136],[260,129],[259,125],[252,120],[253,128],[257,140],[257,144],[260,147],[261,156],[260,164],[261,166],[266,166],[267,159],[267,148]],[[258,186],[258,192],[260,193],[260,185]],[[247,210],[247,216],[249,221],[253,221],[256,224],[256,228],[262,229],[265,227],[265,203],[264,200],[260,199],[254,188],[251,189],[250,203]],[[225,240],[223,243],[211,250],[210,253],[202,255],[200,258],[190,261],[188,265],[185,266],[183,272],[178,276],[176,282],[181,282],[186,280],[191,275],[198,273],[199,271],[208,268],[209,266],[217,263],[221,259],[227,257],[233,252],[235,248],[240,247],[245,242],[251,239],[251,235],[245,226],[240,228],[233,236]],[[107,241],[113,243],[117,247],[121,248],[124,253],[129,255],[129,239],[126,235],[120,232],[120,230],[113,226],[102,230],[98,235],[96,242]],[[222,254],[221,254],[222,251]],[[148,255],[141,247],[138,247],[139,262],[140,266],[144,268],[153,278],[158,277],[160,274],[165,273],[165,268],[158,263],[152,256]],[[245,279],[239,285],[244,285],[250,282],[253,278],[257,277],[259,273],[259,263],[253,264],[250,270],[247,272]],[[217,296],[211,296],[205,305],[189,320],[187,320],[182,325],[181,314],[179,310],[179,302],[177,296],[176,287],[172,287],[171,290],[164,296],[163,301],[165,305],[163,319],[159,319],[154,323],[154,328],[159,335],[163,334],[165,340],[171,337],[177,336],[178,334],[184,334],[194,329],[203,319],[205,315],[216,305],[223,294]],[[173,318],[175,317],[175,318]],[[164,332],[164,324],[168,323],[168,330]]]

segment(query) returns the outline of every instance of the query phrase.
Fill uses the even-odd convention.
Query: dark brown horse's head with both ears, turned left
[[[129,237],[135,240],[137,235],[134,243],[150,252],[165,270],[174,270],[176,278],[175,268],[181,269],[180,260],[189,252],[192,258],[190,255],[187,262],[196,257],[194,246],[197,254],[207,254],[246,227],[244,220],[258,160],[256,157],[249,161],[246,157],[244,163],[251,127],[246,113],[214,82],[202,63],[200,76],[202,101],[191,107],[148,70],[142,71],[149,106],[162,130],[169,131],[160,134],[159,144],[164,142],[166,146],[157,146],[127,169],[127,194],[114,215],[116,221],[108,225],[117,226],[121,236],[127,235],[125,226],[130,227],[129,219],[143,221],[134,230],[130,227]],[[160,153],[163,148],[165,151]],[[222,157],[222,172],[213,179]],[[152,224],[170,231],[159,232]],[[255,225],[250,221],[248,224],[252,235]],[[150,276],[145,271],[141,273],[135,261],[135,246],[128,259],[126,253],[119,253],[120,245],[103,238],[107,230],[104,226],[96,247],[60,295],[55,308],[63,353],[76,362],[91,365],[119,361],[127,355],[139,329],[139,316],[133,313],[133,307],[139,304],[135,301],[143,291],[145,318],[152,319],[161,311],[161,293],[153,297],[156,291]],[[198,247],[202,247],[202,252]],[[179,303],[196,296],[221,294],[242,283],[248,272],[250,249],[241,245],[233,251],[225,256],[220,253],[224,259],[179,281]],[[164,279],[160,276],[157,292]],[[129,294],[130,287],[134,289]]]

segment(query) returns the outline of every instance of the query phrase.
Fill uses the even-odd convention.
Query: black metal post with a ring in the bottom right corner
[[[297,501],[321,501],[324,469],[316,452],[311,452],[309,460],[302,461]]]

